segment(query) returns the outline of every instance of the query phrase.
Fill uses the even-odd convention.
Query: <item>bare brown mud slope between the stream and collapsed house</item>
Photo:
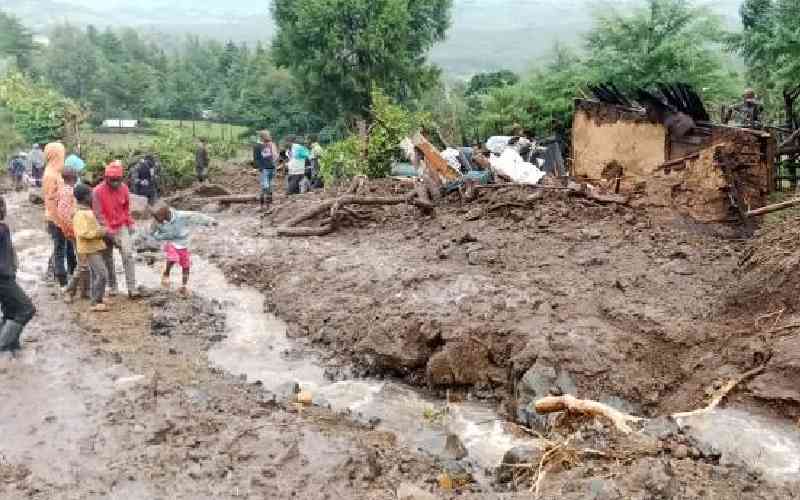
[[[272,236],[315,196],[278,198],[266,218],[237,217],[226,227],[238,243],[206,251],[231,279],[265,290],[290,333],[332,363],[468,388],[505,400],[526,423],[526,404],[552,391],[646,414],[702,403],[703,360],[725,340],[715,315],[737,266],[735,241],[530,192],[454,203],[431,219],[371,210],[324,238]],[[745,358],[706,365],[734,373]]]

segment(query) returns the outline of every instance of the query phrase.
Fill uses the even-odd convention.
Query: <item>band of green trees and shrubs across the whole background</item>
[[[579,46],[556,45],[524,74],[498,70],[500,60],[459,82],[444,80],[428,62],[449,26],[452,0],[276,0],[278,32],[269,49],[189,37],[166,50],[133,29],[67,24],[53,29],[50,44],[36,47],[16,19],[2,15],[0,57],[13,59],[19,72],[0,83],[0,106],[14,121],[0,142],[14,142],[14,134],[26,142],[61,137],[67,122],[86,113],[95,124],[151,117],[153,137],[83,137],[97,150],[95,164],[125,157],[118,152],[157,148],[179,183],[191,173],[195,136],[208,136],[212,154],[229,157],[258,129],[278,141],[319,134],[333,143],[321,159],[331,182],[386,175],[400,139],[423,126],[450,145],[507,134],[516,125],[537,136],[565,134],[573,100],[589,83],[611,81],[624,90],[686,82],[712,112],[738,100],[751,83],[773,119],[785,115],[797,123],[800,4],[745,0],[737,34],[726,33],[698,4],[645,0],[642,8],[618,9],[605,3],[586,14],[592,28]],[[742,56],[746,74],[733,69],[726,49]],[[196,120],[206,112],[231,125]]]

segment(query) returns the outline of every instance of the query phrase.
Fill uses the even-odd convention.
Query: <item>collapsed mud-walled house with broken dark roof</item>
[[[572,174],[631,204],[698,222],[744,218],[768,203],[777,150],[768,133],[711,123],[685,85],[639,90],[592,88],[578,99],[572,128]]]

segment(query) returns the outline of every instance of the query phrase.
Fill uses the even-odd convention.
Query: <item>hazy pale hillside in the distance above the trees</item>
[[[618,8],[636,0],[606,2]],[[705,2],[729,26],[739,22],[741,0]],[[263,8],[259,8],[263,5]],[[453,76],[479,71],[524,71],[556,41],[578,43],[591,27],[594,0],[455,0],[453,26],[432,54]],[[220,40],[267,42],[274,33],[267,0],[3,0],[2,7],[38,33],[62,22],[134,26],[154,37],[196,34]],[[602,8],[602,7],[598,7]]]

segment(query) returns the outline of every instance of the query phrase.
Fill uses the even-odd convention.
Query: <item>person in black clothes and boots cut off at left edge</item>
[[[36,314],[33,302],[17,284],[17,253],[5,218],[6,201],[0,197],[0,306],[3,308],[0,352],[20,349],[22,330]]]

